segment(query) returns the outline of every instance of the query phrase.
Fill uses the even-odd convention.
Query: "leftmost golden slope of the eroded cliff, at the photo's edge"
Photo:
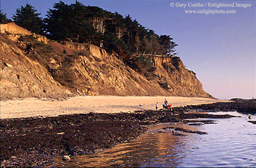
[[[28,58],[6,34],[0,37],[0,56],[1,99],[72,95],[38,61]]]

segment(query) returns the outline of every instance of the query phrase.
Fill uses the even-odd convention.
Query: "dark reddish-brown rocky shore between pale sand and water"
[[[128,142],[146,131],[145,125],[178,123],[188,118],[231,118],[185,112],[135,111],[89,113],[48,118],[1,120],[1,167],[34,167],[51,164],[54,156],[97,153]],[[186,122],[186,121],[184,121]]]

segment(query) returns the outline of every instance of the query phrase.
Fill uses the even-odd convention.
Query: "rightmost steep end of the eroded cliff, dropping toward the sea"
[[[154,72],[159,85],[177,96],[212,97],[203,90],[203,85],[197,79],[195,72],[185,68],[180,58],[153,58]]]

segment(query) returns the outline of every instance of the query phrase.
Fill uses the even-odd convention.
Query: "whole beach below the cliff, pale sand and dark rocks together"
[[[172,112],[162,111],[160,108],[161,102],[159,101],[159,110],[153,110],[154,102],[165,98],[169,102],[171,100],[170,103],[172,104],[179,101],[176,104],[181,106],[176,107],[174,103]],[[90,101],[88,101],[89,99]],[[95,99],[98,102],[105,101],[105,104],[98,104]],[[128,100],[130,102],[126,102]],[[109,104],[110,102],[112,104]],[[140,106],[139,103],[141,102],[143,104]],[[207,102],[217,103],[206,104]],[[8,112],[6,112],[4,116],[9,116],[9,118],[2,118],[1,116],[1,167],[33,167],[50,165],[55,156],[98,153],[119,143],[129,142],[146,131],[144,126],[151,124],[186,123],[186,119],[189,118],[231,118],[234,116],[197,112],[197,109],[199,111],[236,110],[237,107],[243,106],[249,107],[249,109],[252,107],[253,109],[255,100],[252,100],[251,103],[251,101],[246,100],[242,102],[240,100],[223,102],[216,99],[165,96],[78,96],[76,99],[66,100],[16,99],[4,103],[7,104],[4,106],[5,110],[7,110],[7,107],[15,110],[14,107],[16,107],[20,110],[19,112],[24,112],[24,114],[13,117],[12,112],[10,113],[12,115],[8,115]],[[84,104],[80,107],[81,103]],[[86,105],[90,103],[91,106],[87,110],[94,105],[93,112],[86,111]],[[133,103],[136,103],[137,106],[132,106]],[[52,107],[53,104],[56,107]],[[63,115],[57,108],[60,104],[64,107],[65,105],[72,106],[69,110],[74,111],[71,113],[67,111],[67,114]],[[184,107],[186,104],[189,105]],[[201,105],[194,106],[191,104]],[[151,110],[145,110],[143,106],[152,107],[150,107]],[[28,107],[29,110],[39,108],[39,111],[29,112],[23,109],[25,107]],[[45,107],[50,110],[45,109]],[[108,112],[108,110],[115,108],[123,108],[128,112]],[[43,114],[44,110],[48,111]],[[56,112],[54,112],[55,110]],[[27,115],[32,115],[32,117],[24,117]],[[211,120],[207,122],[212,123]],[[193,124],[197,125],[198,123]],[[193,133],[191,130],[183,131]],[[207,134],[206,132],[194,133]]]

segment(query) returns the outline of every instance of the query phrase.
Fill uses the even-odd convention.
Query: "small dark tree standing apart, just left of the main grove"
[[[26,4],[25,7],[21,6],[16,9],[15,15],[12,16],[14,22],[23,28],[28,29],[36,34],[43,33],[42,18],[39,17],[40,13],[34,9],[30,4]]]

